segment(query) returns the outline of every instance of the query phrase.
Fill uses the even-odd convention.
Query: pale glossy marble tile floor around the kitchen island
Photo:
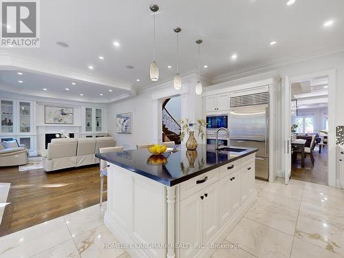
[[[257,202],[213,258],[344,257],[344,191],[282,179],[256,180]],[[0,238],[0,257],[119,257],[103,248],[116,238],[103,224],[106,203],[95,205]]]

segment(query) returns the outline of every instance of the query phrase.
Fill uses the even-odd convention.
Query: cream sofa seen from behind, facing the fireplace
[[[47,144],[47,155],[43,158],[45,171],[56,171],[76,166],[99,163],[95,153],[99,148],[115,147],[112,137],[100,138],[56,138]]]

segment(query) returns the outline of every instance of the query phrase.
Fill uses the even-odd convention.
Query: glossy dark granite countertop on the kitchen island
[[[232,146],[231,148],[244,149]],[[158,157],[151,155],[148,149],[98,153],[96,157],[166,186],[174,186],[258,151],[255,148],[245,148],[241,152],[215,151],[214,148],[207,147],[205,144],[198,144],[195,151],[188,151],[184,144],[178,149],[180,151],[164,153]],[[159,162],[165,162],[165,164],[157,164]]]

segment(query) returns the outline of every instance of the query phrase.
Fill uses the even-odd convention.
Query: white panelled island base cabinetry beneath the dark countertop
[[[140,245],[131,257],[211,257],[257,198],[254,164],[251,153],[166,186],[109,162],[105,224],[121,244]]]

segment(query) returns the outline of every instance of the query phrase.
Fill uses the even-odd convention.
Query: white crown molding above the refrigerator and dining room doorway
[[[327,56],[330,54],[335,54],[335,53],[343,52],[343,51],[344,51],[344,44],[339,44],[339,45],[334,45],[331,47],[325,47],[321,50],[317,50],[303,56],[301,55],[284,56],[282,58],[276,58],[266,63],[260,63],[257,65],[252,65],[250,67],[245,67],[244,69],[237,69],[233,72],[219,74],[213,77],[213,80],[211,81],[211,83],[214,85],[214,84],[224,83],[230,80],[237,80],[240,78],[245,78],[248,76],[255,76],[256,74],[263,74],[265,72],[270,72],[271,70],[276,70],[283,66],[293,65],[295,63],[300,63],[303,61],[308,61],[310,59],[318,58],[321,56]]]

